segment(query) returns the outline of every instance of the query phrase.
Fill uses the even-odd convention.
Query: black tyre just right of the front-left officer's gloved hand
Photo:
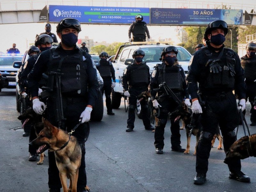
[[[95,102],[95,106],[92,109],[91,121],[101,121],[103,117],[103,97],[101,91],[98,92],[98,99]]]

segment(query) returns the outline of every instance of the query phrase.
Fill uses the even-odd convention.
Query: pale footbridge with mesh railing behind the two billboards
[[[72,6],[106,6],[106,7],[157,7],[157,8],[189,8],[189,9],[243,9],[250,14],[252,25],[256,25],[255,4],[223,5],[220,0],[216,2],[185,1],[185,0],[1,0],[0,24],[12,23],[36,23],[46,22],[40,20],[40,14],[44,7],[49,5],[72,5]],[[220,1],[220,2],[217,2]],[[90,23],[92,24],[92,23]],[[99,24],[99,23],[98,23]]]

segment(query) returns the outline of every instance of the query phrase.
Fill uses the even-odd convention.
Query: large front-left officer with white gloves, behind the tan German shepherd
[[[85,147],[84,142],[87,136],[89,124],[85,123],[90,120],[92,107],[98,95],[98,81],[96,67],[93,66],[91,56],[82,51],[76,42],[78,33],[81,31],[80,22],[73,18],[62,19],[57,25],[57,34],[61,43],[53,49],[44,51],[38,57],[34,68],[28,75],[28,87],[33,99],[33,109],[37,114],[42,114],[45,110],[45,104],[38,99],[38,81],[42,73],[48,75],[50,97],[47,99],[47,119],[55,126],[70,132],[82,120],[73,135],[77,138],[82,150],[81,166],[78,173],[77,191],[85,192],[86,172],[85,172]],[[57,75],[54,75],[56,74]],[[52,77],[60,80],[63,106],[56,102],[57,89],[51,87]],[[54,81],[53,79],[53,81]],[[53,84],[55,85],[55,84]],[[59,95],[60,96],[60,95]],[[60,100],[59,100],[60,101]],[[61,107],[60,113],[63,112],[64,119],[56,122],[58,114],[56,110]],[[49,156],[49,191],[60,191],[61,182],[59,171],[55,163],[53,152],[48,151]]]

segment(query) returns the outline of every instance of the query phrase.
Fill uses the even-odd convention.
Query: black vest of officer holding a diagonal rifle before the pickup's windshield
[[[183,90],[183,78],[180,73],[180,67],[172,66],[165,67],[165,79],[164,79],[164,68],[162,65],[158,65],[159,74],[157,78],[157,83],[161,84],[166,82],[168,87],[172,90],[182,91]]]

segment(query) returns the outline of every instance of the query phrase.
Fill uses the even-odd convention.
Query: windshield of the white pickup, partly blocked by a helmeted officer
[[[164,47],[149,47],[149,48],[141,48],[142,51],[145,53],[144,61],[147,62],[159,62],[159,58],[161,57],[161,52],[163,51]],[[177,47],[178,54],[177,59],[178,61],[189,61],[191,55],[182,47]]]

